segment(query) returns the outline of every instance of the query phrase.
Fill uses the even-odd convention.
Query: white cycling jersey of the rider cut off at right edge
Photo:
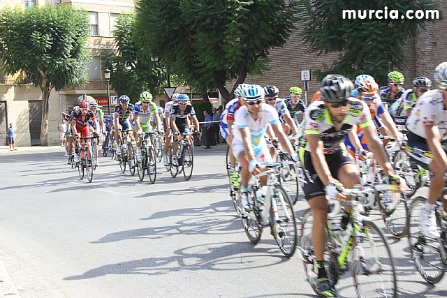
[[[406,121],[406,128],[424,139],[427,138],[426,125],[438,126],[441,140],[446,140],[447,111],[444,110],[444,97],[439,90],[430,90],[420,96]]]

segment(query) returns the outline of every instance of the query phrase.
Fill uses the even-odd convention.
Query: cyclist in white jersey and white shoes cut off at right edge
[[[425,170],[430,170],[432,179],[428,201],[421,209],[420,228],[427,237],[439,238],[434,203],[441,195],[447,171],[447,62],[434,70],[437,89],[425,92],[406,121],[408,142],[406,150]],[[447,200],[442,200],[447,211]]]

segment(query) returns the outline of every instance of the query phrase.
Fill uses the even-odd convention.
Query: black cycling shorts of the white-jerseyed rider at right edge
[[[433,154],[428,149],[427,140],[419,135],[406,133],[408,141],[406,142],[406,153],[413,159],[418,165],[425,170],[429,170],[428,165],[433,161]],[[441,142],[442,149],[447,153],[447,141]]]

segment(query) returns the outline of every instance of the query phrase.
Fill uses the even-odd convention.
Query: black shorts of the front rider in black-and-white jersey
[[[349,154],[342,149],[338,149],[333,154],[325,154],[325,160],[326,163],[328,163],[330,174],[335,179],[338,179],[338,170],[340,167],[343,165],[355,164],[351,156],[349,156]],[[300,152],[300,162],[302,169],[300,171],[302,178],[302,190],[305,193],[306,200],[325,195],[325,186],[316,174],[309,151],[304,151],[304,154],[301,154]]]

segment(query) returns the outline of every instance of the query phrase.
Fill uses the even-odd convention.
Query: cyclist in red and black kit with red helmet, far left
[[[98,127],[98,121],[96,121],[94,113],[89,110],[89,103],[86,100],[80,101],[79,107],[79,110],[73,111],[71,128],[73,129],[73,134],[77,137],[89,137],[89,120],[91,119],[94,122],[95,127]],[[93,133],[95,135],[95,131]],[[75,163],[79,163],[78,142],[75,145]]]

